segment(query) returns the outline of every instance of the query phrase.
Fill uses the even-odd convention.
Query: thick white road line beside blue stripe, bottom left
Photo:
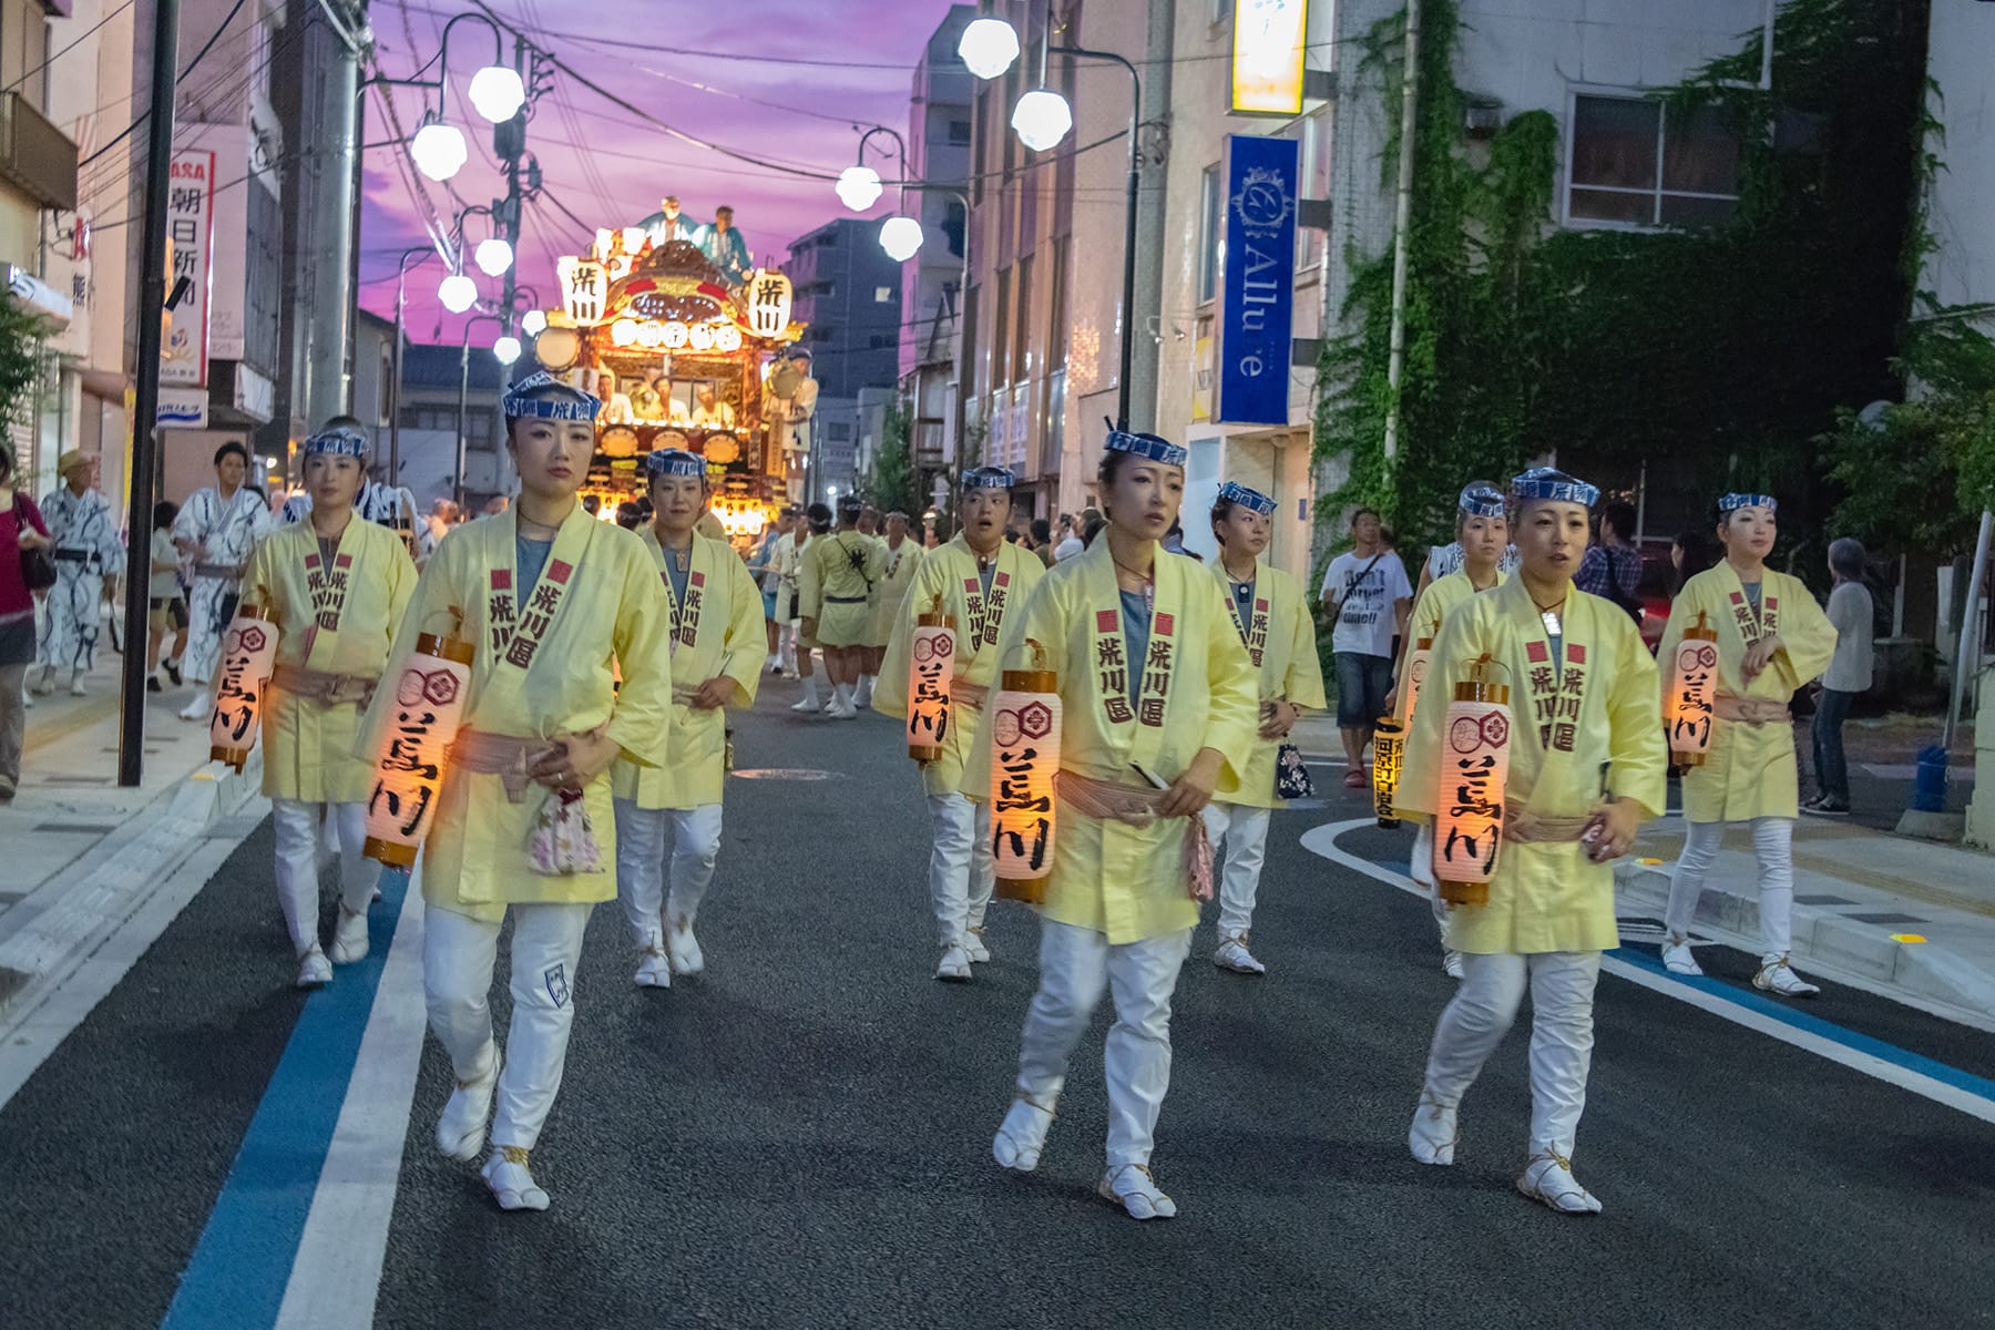
[[[423,881],[409,881],[347,1099],[305,1214],[279,1330],[367,1330],[423,1061]]]

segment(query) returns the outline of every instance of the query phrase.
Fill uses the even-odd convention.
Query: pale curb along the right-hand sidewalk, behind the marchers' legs
[[[1614,895],[1622,903],[1662,917],[1670,901],[1670,873],[1624,859],[1614,865]],[[1758,953],[1754,939],[1760,937],[1760,897],[1708,881],[1692,923],[1704,933]],[[1813,905],[1796,905],[1794,955],[1925,1001],[1995,1017],[1995,975],[1931,943],[1893,941],[1875,923],[1857,923]]]

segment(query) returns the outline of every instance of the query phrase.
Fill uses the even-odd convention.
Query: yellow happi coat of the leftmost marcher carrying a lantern
[[[353,514],[333,566],[317,564],[319,536],[309,520],[279,526],[249,556],[241,596],[275,612],[277,664],[381,678],[415,594],[409,550],[387,526]],[[271,688],[263,698],[263,794],[305,804],[365,800],[373,762],[353,752],[359,724],[357,702],[311,702]]]

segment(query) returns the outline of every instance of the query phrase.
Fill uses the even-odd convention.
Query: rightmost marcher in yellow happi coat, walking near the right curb
[[[1829,668],[1835,628],[1799,578],[1774,572],[1766,556],[1778,534],[1772,495],[1718,500],[1724,562],[1684,582],[1662,630],[1660,660],[1676,660],[1684,630],[1704,616],[1718,632],[1718,704],[1704,766],[1684,772],[1684,855],[1670,877],[1662,963],[1674,975],[1702,975],[1690,955],[1704,875],[1718,857],[1728,822],[1752,828],[1760,861],[1760,971],[1752,985],[1778,997],[1813,997],[1788,963],[1794,933],[1794,820],[1799,768],[1788,698]]]

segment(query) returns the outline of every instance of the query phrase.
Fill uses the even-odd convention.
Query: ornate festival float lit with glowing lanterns
[[[644,457],[686,449],[706,459],[728,540],[752,548],[800,473],[782,391],[794,375],[778,373],[804,331],[790,279],[758,269],[730,285],[698,245],[654,245],[644,227],[597,231],[557,273],[563,303],[545,311],[535,357],[602,399],[583,502],[616,520],[644,497]]]

